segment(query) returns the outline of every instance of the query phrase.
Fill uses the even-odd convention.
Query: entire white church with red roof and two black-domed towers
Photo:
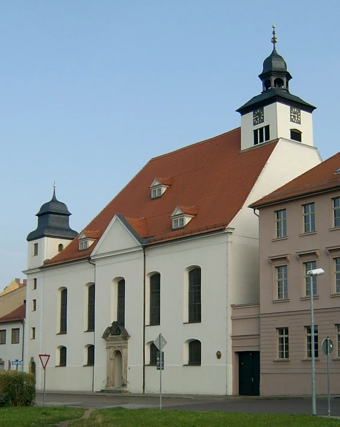
[[[38,389],[47,353],[48,390],[156,393],[162,333],[164,393],[237,394],[231,307],[259,300],[248,206],[321,161],[315,107],[290,94],[272,41],[240,128],[151,159],[79,234],[55,192],[41,207],[25,271]]]

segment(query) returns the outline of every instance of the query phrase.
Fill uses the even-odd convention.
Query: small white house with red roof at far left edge
[[[0,370],[23,369],[13,362],[23,360],[25,311],[24,303],[0,318]]]

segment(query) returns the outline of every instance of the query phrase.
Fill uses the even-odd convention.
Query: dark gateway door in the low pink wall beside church
[[[238,353],[238,394],[258,396],[260,394],[260,352]]]

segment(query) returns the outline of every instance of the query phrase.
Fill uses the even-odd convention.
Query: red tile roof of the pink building
[[[340,170],[340,152],[252,203],[249,207],[258,208],[287,199],[296,199],[308,196],[308,194],[339,188],[340,173],[336,174],[337,170]]]

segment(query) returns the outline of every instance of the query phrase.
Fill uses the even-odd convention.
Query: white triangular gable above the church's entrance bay
[[[138,248],[143,245],[144,240],[122,215],[115,214],[91,253],[91,257]]]

